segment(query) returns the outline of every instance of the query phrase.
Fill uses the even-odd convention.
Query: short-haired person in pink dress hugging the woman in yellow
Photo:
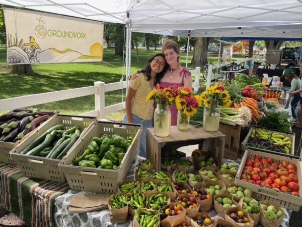
[[[192,89],[192,77],[191,73],[185,68],[179,65],[180,50],[177,43],[168,39],[162,46],[163,54],[168,64],[164,77],[160,80],[160,85],[164,87],[174,86],[188,87]],[[131,76],[131,79],[135,79],[136,74]],[[171,109],[171,125],[177,125],[177,108],[175,105],[170,106]]]

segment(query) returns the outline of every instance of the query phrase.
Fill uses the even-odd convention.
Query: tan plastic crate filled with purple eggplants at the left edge
[[[51,119],[53,116],[50,116],[49,119]],[[49,121],[49,119],[47,121]],[[45,121],[42,125],[46,124]],[[17,161],[11,158],[10,151],[13,150],[16,146],[18,146],[20,143],[22,143],[24,140],[29,138],[31,135],[33,135],[37,130],[39,130],[42,125],[35,128],[33,131],[26,134],[21,140],[18,140],[17,142],[3,142],[0,141],[0,162],[5,162],[9,164],[17,164]]]

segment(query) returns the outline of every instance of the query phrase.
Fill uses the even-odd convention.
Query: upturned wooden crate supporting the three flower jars
[[[206,132],[201,127],[190,125],[189,130],[181,131],[177,126],[171,126],[171,134],[167,137],[158,137],[154,134],[154,128],[147,129],[147,158],[156,169],[161,169],[162,151],[178,149],[182,146],[198,144],[199,149],[207,151],[209,156],[215,159],[216,165],[220,165],[224,155],[225,135],[217,132]]]

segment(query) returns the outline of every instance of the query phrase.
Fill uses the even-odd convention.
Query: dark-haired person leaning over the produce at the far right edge
[[[292,93],[296,91],[293,95],[293,98],[290,102],[291,105],[291,116],[295,121],[297,121],[297,113],[296,113],[296,107],[300,100],[300,93],[297,92],[301,88],[301,81],[299,80],[298,76],[293,73],[288,73],[285,75],[285,79],[290,81],[290,88],[282,87],[282,90],[288,91],[288,93]]]

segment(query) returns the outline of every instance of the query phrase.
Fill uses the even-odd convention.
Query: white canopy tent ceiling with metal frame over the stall
[[[192,37],[302,37],[302,0],[0,0],[0,4],[130,23],[134,32],[187,36],[191,30]]]

